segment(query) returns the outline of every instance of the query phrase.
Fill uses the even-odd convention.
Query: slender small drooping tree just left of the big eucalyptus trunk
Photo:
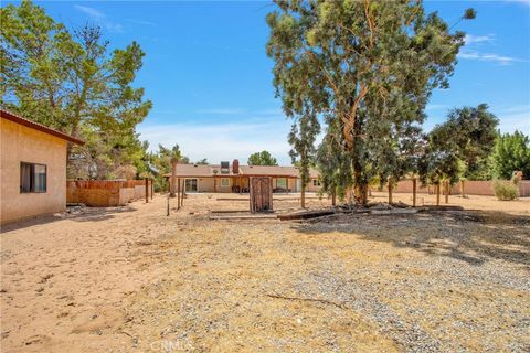
[[[310,106],[306,106],[304,114],[296,117],[288,136],[290,146],[289,156],[293,164],[298,165],[300,175],[300,205],[306,206],[306,186],[310,179],[310,168],[315,162],[315,140],[320,132],[320,122]]]

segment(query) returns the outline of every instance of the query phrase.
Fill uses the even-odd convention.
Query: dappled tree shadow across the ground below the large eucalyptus
[[[294,225],[300,233],[342,232],[469,265],[501,259],[530,269],[530,216],[502,212],[430,212],[414,215],[336,214]]]

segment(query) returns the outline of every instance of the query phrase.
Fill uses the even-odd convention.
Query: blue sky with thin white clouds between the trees
[[[4,2],[6,3],[6,2]],[[131,41],[146,52],[136,85],[153,109],[138,127],[151,148],[179,143],[192,161],[210,162],[269,150],[289,164],[290,121],[274,97],[273,63],[265,54],[269,2],[39,2],[68,26],[98,23],[112,46]],[[451,88],[434,92],[425,128],[452,107],[487,103],[501,131],[530,133],[530,1],[428,1],[455,23],[466,8],[477,19],[468,33]]]

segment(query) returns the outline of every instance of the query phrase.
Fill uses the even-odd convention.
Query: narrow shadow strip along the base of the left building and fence
[[[85,207],[80,212],[62,212],[53,215],[41,215],[28,220],[8,223],[1,226],[1,233],[9,233],[34,225],[44,225],[63,220],[75,222],[102,222],[114,218],[116,214],[135,212],[137,208],[127,206],[118,207]]]

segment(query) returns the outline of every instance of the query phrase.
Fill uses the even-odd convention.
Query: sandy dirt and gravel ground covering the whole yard
[[[530,199],[449,199],[483,212],[209,218],[247,208],[244,197],[190,194],[168,217],[157,195],[3,226],[1,351],[530,351]],[[275,208],[297,208],[296,197],[275,195]]]

